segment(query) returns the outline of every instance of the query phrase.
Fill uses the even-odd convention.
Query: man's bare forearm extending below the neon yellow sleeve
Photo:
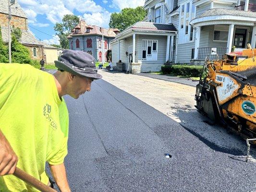
[[[64,163],[60,165],[50,165],[50,171],[51,174],[56,181],[58,187],[60,188],[61,192],[71,192],[67,180],[67,175],[66,175],[66,169],[64,166]]]

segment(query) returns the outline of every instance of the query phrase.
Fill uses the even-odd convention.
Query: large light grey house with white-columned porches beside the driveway
[[[233,46],[236,51],[246,48],[247,43],[256,46],[256,0],[146,0],[144,8],[144,21],[128,27],[110,42],[113,64],[122,60],[128,66],[128,53],[135,55],[132,64],[140,64],[141,72],[159,71],[166,61],[200,64],[207,55],[217,58],[212,50],[221,58]],[[158,24],[169,26],[170,31],[155,27]],[[144,34],[137,35],[138,30]],[[154,57],[151,48],[147,51],[151,45],[147,40],[158,42],[156,49],[160,51]]]

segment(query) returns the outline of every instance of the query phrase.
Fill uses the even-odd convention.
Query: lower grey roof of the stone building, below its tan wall
[[[21,30],[22,36],[20,39],[20,43],[24,45],[42,45],[44,48],[55,48],[51,45],[48,45],[47,43],[43,41],[38,41],[36,37],[29,31]],[[9,42],[9,35],[8,35],[8,27],[1,27],[2,32],[2,39],[3,42],[8,43]],[[58,48],[56,48],[58,49]]]

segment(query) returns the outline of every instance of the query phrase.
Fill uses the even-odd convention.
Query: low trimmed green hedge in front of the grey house
[[[175,74],[188,77],[199,77],[202,72],[202,65],[162,65],[163,74]]]

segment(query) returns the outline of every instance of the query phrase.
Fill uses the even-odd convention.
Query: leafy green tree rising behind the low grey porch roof
[[[110,28],[118,28],[121,32],[127,27],[142,21],[146,17],[143,7],[124,8],[121,12],[114,12],[110,16]]]

